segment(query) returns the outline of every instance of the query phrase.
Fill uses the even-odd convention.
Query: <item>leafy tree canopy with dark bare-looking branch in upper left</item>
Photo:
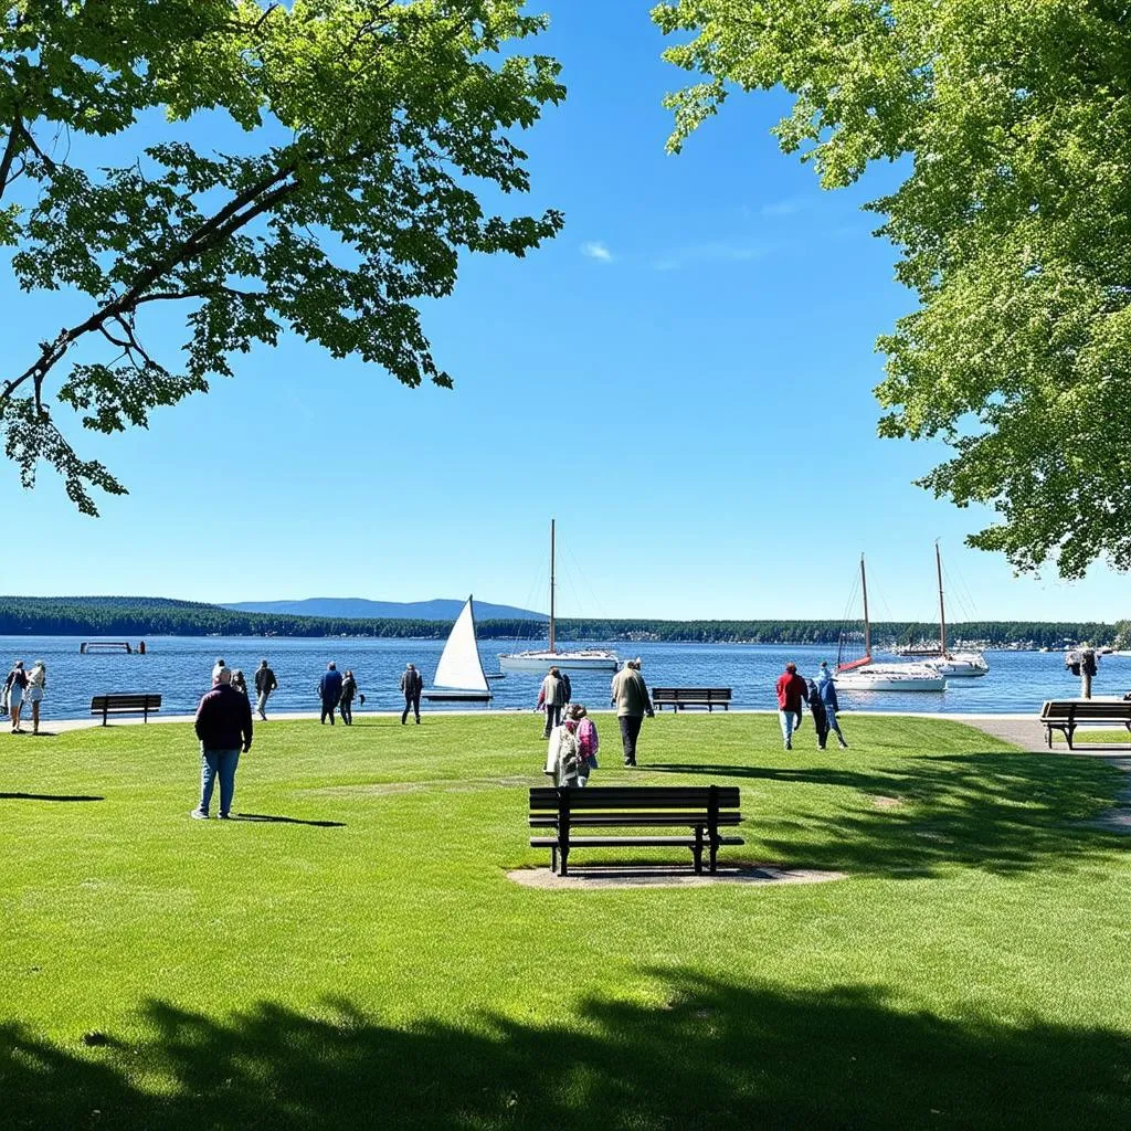
[[[26,486],[45,463],[87,513],[92,489],[124,487],[76,451],[59,406],[97,432],[144,426],[287,330],[450,386],[417,301],[451,292],[461,252],[523,256],[561,227],[481,200],[528,189],[509,135],[564,94],[554,60],[509,48],[545,24],[523,0],[2,7],[0,244],[20,287],[88,309],[50,340],[9,335],[0,434]],[[162,112],[165,136],[132,146]],[[244,131],[239,152],[181,128],[202,114]],[[146,334],[171,305],[176,362]]]

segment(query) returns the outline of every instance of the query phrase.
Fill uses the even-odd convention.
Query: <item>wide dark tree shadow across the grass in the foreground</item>
[[[1131,1041],[1106,1028],[899,1011],[867,987],[782,994],[656,973],[664,1003],[571,1024],[394,1029],[346,1000],[223,1021],[156,1002],[144,1031],[60,1047],[0,1028],[26,1128],[1126,1126]]]

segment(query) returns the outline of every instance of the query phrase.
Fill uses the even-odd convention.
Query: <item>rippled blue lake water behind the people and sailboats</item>
[[[230,666],[243,668],[248,683],[261,657],[275,670],[279,690],[271,697],[278,711],[316,710],[316,684],[327,661],[340,670],[353,668],[365,694],[363,711],[403,706],[397,681],[412,661],[431,684],[442,640],[319,639],[284,640],[236,637],[147,637],[148,655],[80,656],[78,637],[0,637],[0,663],[5,670],[15,657],[27,666],[38,658],[48,664],[44,716],[76,718],[86,715],[90,697],[104,692],[154,691],[164,696],[164,709],[196,709],[207,690],[211,666],[223,656]],[[133,641],[137,644],[137,641]],[[739,707],[774,708],[774,681],[786,661],[797,663],[802,674],[815,674],[822,659],[832,662],[835,649],[778,645],[637,644],[613,647],[622,658],[638,655],[649,687],[723,687],[734,689]],[[480,646],[483,667],[499,670],[498,654],[529,641],[485,640]],[[844,693],[843,706],[861,710],[920,710],[955,713],[1036,711],[1050,698],[1079,694],[1080,681],[1064,671],[1059,653],[990,651],[990,674],[979,680],[952,680],[938,693]],[[607,707],[610,674],[570,673],[573,699],[590,707]],[[495,709],[532,709],[541,675],[508,673],[492,680]],[[1097,696],[1122,694],[1131,688],[1131,657],[1105,656],[1095,681]],[[441,707],[425,709],[443,709]]]

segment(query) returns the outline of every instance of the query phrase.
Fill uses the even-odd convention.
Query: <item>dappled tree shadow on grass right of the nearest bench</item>
[[[918,757],[889,771],[693,763],[647,769],[852,791],[855,796],[834,812],[812,794],[798,794],[795,804],[779,794],[769,813],[765,802],[743,800],[757,840],[796,867],[892,878],[933,875],[950,864],[999,874],[1068,871],[1090,852],[1125,848],[1111,830],[1086,822],[1115,803],[1126,776],[1086,759],[996,751]]]

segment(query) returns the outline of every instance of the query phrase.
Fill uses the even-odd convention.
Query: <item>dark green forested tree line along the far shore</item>
[[[0,597],[0,636],[260,636],[260,637],[386,637],[443,639],[451,621],[392,618],[296,616],[286,613],[243,613],[199,602],[158,597]],[[813,644],[836,645],[855,623],[821,620],[568,620],[558,622],[558,639],[657,641],[684,644]],[[536,647],[545,639],[537,621],[484,620],[477,624],[481,639],[528,640]],[[1061,648],[1089,641],[1097,647],[1131,646],[1131,621],[1105,624],[1095,621],[967,621],[951,624],[956,641],[985,647],[1021,646]],[[878,646],[936,644],[938,628],[915,621],[886,621],[872,625]]]

